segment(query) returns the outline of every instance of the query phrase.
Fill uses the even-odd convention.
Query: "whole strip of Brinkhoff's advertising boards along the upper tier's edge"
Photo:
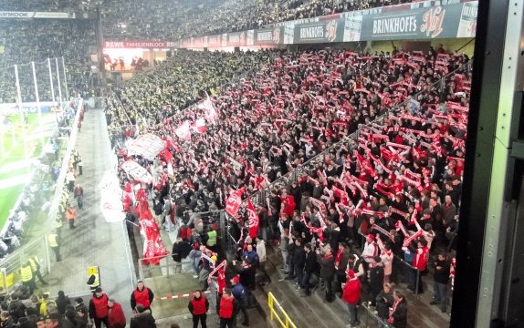
[[[285,22],[264,29],[204,36],[204,46],[275,46],[475,37],[478,2],[463,0],[461,3],[439,5],[442,3],[445,1],[415,3],[411,7],[383,7],[382,10],[342,13]],[[190,42],[190,39],[183,39],[179,43],[182,47],[199,47],[203,44]]]

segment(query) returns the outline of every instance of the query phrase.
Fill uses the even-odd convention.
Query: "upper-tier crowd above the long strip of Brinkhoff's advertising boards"
[[[105,1],[102,13],[104,36],[110,39],[177,39],[408,2],[411,0]],[[173,15],[163,15],[166,11]]]

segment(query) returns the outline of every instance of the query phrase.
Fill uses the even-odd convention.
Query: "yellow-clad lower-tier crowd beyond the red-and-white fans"
[[[122,87],[116,87],[107,98],[106,115],[110,118],[110,134],[136,123],[155,127],[165,118],[214,94],[215,89],[257,69],[267,62],[266,52],[193,52],[179,50],[160,65],[136,74]],[[124,111],[123,108],[127,108]]]

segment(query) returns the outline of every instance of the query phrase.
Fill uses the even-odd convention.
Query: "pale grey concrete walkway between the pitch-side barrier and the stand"
[[[77,209],[76,229],[62,227],[62,261],[51,253],[51,272],[47,290],[56,297],[62,290],[71,296],[82,296],[88,303],[88,268],[100,267],[101,286],[110,298],[121,302],[126,317],[131,317],[130,296],[135,273],[127,232],[122,222],[109,223],[100,212],[100,180],[112,168],[110,139],[104,113],[90,109],[84,118],[76,149],[83,159],[83,175],[77,178],[84,189],[84,209]],[[69,199],[77,208],[76,200]],[[39,285],[39,283],[38,283]]]

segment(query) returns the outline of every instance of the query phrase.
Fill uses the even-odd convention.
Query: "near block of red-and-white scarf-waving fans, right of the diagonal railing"
[[[395,56],[397,63],[405,58]],[[304,297],[319,285],[326,302],[340,292],[351,325],[359,323],[362,301],[384,323],[405,325],[404,292],[394,284],[414,293],[433,284],[430,305],[442,312],[453,290],[471,76],[466,56],[409,58],[424,68],[389,84],[403,85],[395,93],[406,102],[299,170],[297,180],[270,188],[256,209],[261,235],[279,240],[287,279]],[[451,74],[428,87],[440,79],[430,67]],[[361,92],[370,92],[372,81]],[[416,97],[408,96],[412,88]],[[392,100],[384,94],[381,102]]]

